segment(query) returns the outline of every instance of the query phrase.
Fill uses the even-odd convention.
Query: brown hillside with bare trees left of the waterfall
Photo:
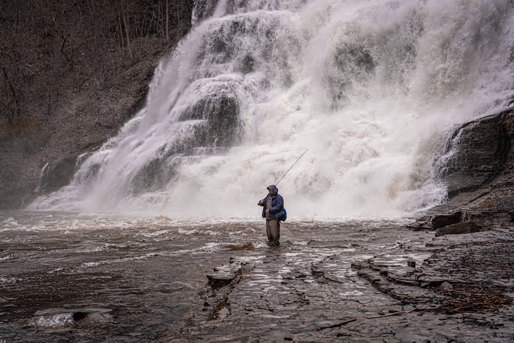
[[[0,208],[49,161],[94,147],[144,104],[193,0],[0,2]]]

